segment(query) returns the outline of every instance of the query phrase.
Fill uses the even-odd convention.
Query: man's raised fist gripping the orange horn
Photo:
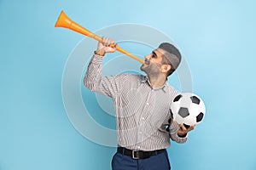
[[[118,44],[115,44],[114,48],[110,47],[114,44],[114,41],[108,37],[102,37],[102,42],[98,43],[95,54],[104,56],[106,53],[113,53],[116,51]]]

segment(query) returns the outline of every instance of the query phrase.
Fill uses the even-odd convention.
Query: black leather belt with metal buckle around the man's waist
[[[163,150],[153,150],[153,151],[143,151],[143,150],[128,150],[124,147],[118,147],[118,152],[125,156],[131,156],[132,159],[145,159],[150,156],[156,156],[160,153],[163,153],[166,149]]]

